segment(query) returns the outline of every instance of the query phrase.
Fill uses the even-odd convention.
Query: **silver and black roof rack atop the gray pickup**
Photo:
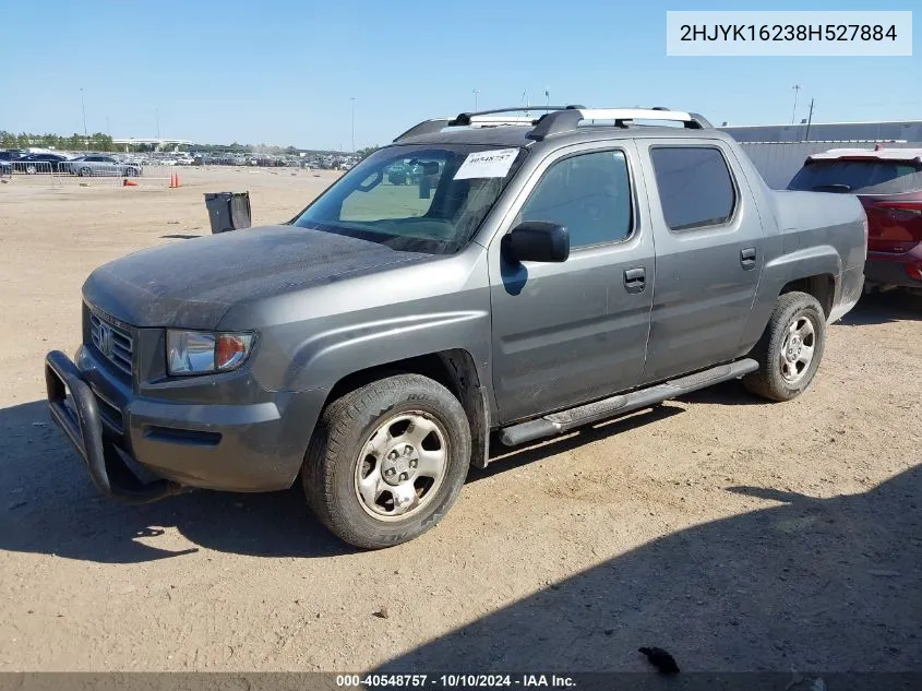
[[[532,118],[527,115],[532,110],[542,115]],[[525,116],[507,116],[511,112],[525,112]],[[682,122],[685,128],[702,130],[713,127],[705,118],[696,112],[670,110],[662,106],[652,108],[586,108],[585,106],[529,106],[527,108],[495,108],[493,110],[478,110],[462,112],[455,118],[436,118],[424,120],[400,134],[395,142],[420,134],[441,132],[452,127],[500,127],[526,126],[534,128],[528,138],[542,140],[552,134],[572,132],[580,122],[592,120],[613,120],[614,127],[627,127],[635,120]]]

